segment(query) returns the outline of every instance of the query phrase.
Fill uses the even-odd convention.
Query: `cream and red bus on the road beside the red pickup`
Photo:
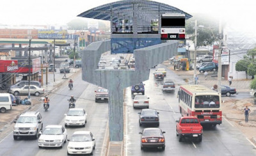
[[[222,122],[221,94],[202,85],[182,85],[178,91],[182,116],[195,116],[201,125]]]

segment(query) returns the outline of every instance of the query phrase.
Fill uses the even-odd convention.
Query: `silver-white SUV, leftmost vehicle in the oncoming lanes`
[[[43,129],[42,115],[39,112],[22,113],[14,123],[13,139],[15,140],[21,136],[32,136],[37,139],[40,130]]]

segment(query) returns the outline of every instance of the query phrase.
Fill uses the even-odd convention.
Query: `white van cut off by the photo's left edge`
[[[12,98],[9,93],[0,93],[0,111],[5,113],[7,110],[12,110]]]

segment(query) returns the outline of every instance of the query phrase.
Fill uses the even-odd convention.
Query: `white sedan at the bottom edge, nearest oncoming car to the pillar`
[[[67,155],[90,154],[93,155],[95,149],[95,138],[90,131],[76,131],[68,139]]]

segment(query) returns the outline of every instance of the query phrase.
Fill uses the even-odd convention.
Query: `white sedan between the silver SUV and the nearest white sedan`
[[[60,147],[67,142],[67,130],[61,125],[47,125],[44,132],[40,132],[38,147]]]

